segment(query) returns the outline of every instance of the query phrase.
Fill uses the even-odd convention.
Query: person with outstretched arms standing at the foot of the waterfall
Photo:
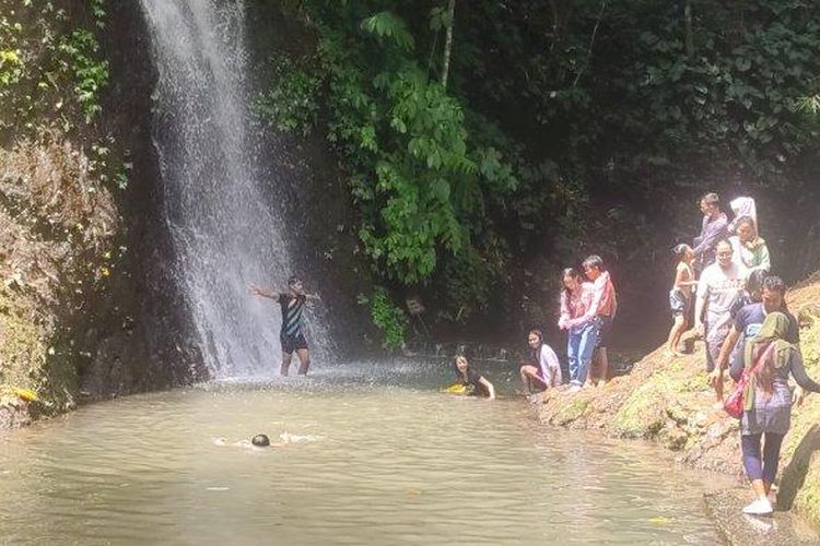
[[[307,349],[307,341],[302,332],[302,312],[308,301],[318,301],[321,298],[312,294],[305,294],[302,280],[296,275],[288,280],[288,292],[273,294],[258,286],[250,286],[250,294],[278,301],[282,308],[282,330],[279,341],[282,343],[282,367],[280,372],[286,376],[291,367],[293,352],[298,356],[298,375],[306,376],[311,366],[311,353]]]

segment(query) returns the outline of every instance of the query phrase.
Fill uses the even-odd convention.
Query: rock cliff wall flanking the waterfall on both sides
[[[25,68],[19,84],[0,88],[11,96],[0,100],[0,430],[84,401],[208,378],[167,265],[174,249],[151,126],[156,73],[139,2],[109,0],[104,20],[84,0],[56,0],[67,14],[60,17],[51,3],[32,4],[0,0],[8,28],[20,24],[14,37],[23,38],[13,45]],[[254,7],[255,24],[282,29],[253,35],[259,59],[311,39],[274,8]],[[104,58],[108,71],[90,122],[73,94],[72,59],[54,58],[70,50],[57,45],[78,28],[99,46],[98,56],[85,57],[99,57],[99,70]],[[258,43],[262,35],[279,41]],[[335,349],[366,348],[362,333],[373,331],[356,296],[372,287],[347,179],[319,135],[255,129],[268,157],[265,197],[296,234],[293,271],[313,273],[321,318],[340,325]],[[13,388],[40,400],[26,405]]]

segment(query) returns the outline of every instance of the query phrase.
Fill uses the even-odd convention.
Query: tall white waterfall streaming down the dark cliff
[[[281,361],[279,306],[251,296],[248,285],[283,292],[291,259],[284,224],[260,187],[276,180],[263,179],[253,152],[244,3],[140,2],[157,72],[153,140],[173,277],[212,376],[272,378]],[[309,319],[307,329],[314,360],[321,360],[325,329]]]

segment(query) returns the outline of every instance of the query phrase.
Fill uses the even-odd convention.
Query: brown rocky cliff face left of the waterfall
[[[99,29],[86,2],[56,4],[70,16],[36,2],[4,12],[20,28],[24,70],[0,111],[0,430],[83,400],[206,377],[163,270],[153,74],[138,7],[106,3]],[[106,52],[95,70],[113,82],[93,98],[101,114],[91,121],[74,95],[80,61],[57,57],[78,32]],[[82,62],[96,58],[85,54]],[[42,78],[52,86],[33,92]],[[24,404],[13,388],[39,400]]]

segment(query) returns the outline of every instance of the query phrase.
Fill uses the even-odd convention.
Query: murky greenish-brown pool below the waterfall
[[[490,373],[488,373],[490,376]],[[492,373],[502,394],[512,373]],[[82,407],[0,440],[2,544],[714,544],[668,453],[445,395],[449,365],[339,366]],[[216,446],[265,432],[286,446]]]

